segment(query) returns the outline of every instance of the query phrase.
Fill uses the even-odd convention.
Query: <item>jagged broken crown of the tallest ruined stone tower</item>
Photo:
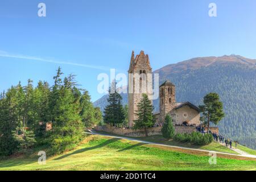
[[[144,54],[144,51],[141,51],[136,57],[134,57],[134,51],[131,53],[129,73],[133,72],[133,70],[137,68],[146,68],[152,71],[149,57]]]

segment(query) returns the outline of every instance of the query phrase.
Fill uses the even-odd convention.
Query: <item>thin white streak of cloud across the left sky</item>
[[[0,57],[9,57],[9,58],[34,60],[34,61],[43,61],[43,62],[53,63],[53,64],[67,64],[67,65],[73,65],[73,66],[77,66],[77,67],[100,69],[102,71],[109,71],[110,70],[110,68],[108,68],[108,67],[102,67],[102,66],[97,66],[97,65],[89,65],[89,64],[79,64],[79,63],[73,63],[71,61],[59,61],[59,60],[55,60],[55,59],[44,59],[42,57],[35,57],[35,56],[16,55],[16,54],[10,54],[8,52],[1,51],[1,50],[0,50]]]

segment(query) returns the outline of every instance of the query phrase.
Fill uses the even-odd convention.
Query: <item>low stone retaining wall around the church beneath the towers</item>
[[[193,126],[174,126],[176,133],[192,133],[192,131],[196,131],[196,128]],[[161,133],[162,127],[148,127],[147,128],[147,135],[162,135]],[[120,127],[104,125],[104,126],[97,126],[95,128],[96,131],[105,131],[107,133],[117,134],[117,135],[124,135],[129,137],[145,137],[144,129],[133,130],[133,129],[123,129]]]

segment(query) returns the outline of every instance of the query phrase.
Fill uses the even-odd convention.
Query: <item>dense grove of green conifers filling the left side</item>
[[[28,80],[26,86],[19,82],[0,94],[0,155],[40,145],[54,153],[70,150],[82,140],[85,127],[102,121],[100,108],[75,76],[62,76],[59,68],[52,86],[39,81],[34,87]]]

